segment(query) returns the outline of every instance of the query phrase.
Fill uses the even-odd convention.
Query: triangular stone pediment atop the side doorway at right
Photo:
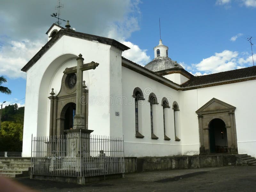
[[[222,111],[234,111],[236,107],[229,105],[221,100],[216,98],[212,98],[206,104],[204,104],[201,108],[199,108],[196,113],[203,114],[208,112],[222,112]]]

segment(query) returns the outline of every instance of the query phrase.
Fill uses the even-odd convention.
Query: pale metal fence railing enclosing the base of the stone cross
[[[74,133],[33,137],[31,174],[90,177],[124,173],[124,139]]]

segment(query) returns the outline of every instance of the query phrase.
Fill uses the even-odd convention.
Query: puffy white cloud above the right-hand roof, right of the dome
[[[253,57],[256,58],[256,55],[253,55]],[[215,53],[213,56],[203,59],[197,64],[192,64],[194,72],[203,71],[207,74],[244,68],[245,65],[252,66],[252,56],[244,58],[238,52],[229,50]]]

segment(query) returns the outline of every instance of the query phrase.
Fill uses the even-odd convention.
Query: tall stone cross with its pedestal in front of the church
[[[80,171],[81,165],[84,167],[85,161],[90,159],[90,134],[93,130],[85,129],[84,116],[82,114],[82,96],[83,96],[83,71],[95,69],[99,63],[92,61],[83,64],[84,58],[79,54],[76,58],[77,66],[66,68],[64,74],[76,73],[76,115],[74,117],[74,126],[71,130],[65,130],[67,133],[67,156],[63,159],[62,165],[73,167]],[[87,162],[86,162],[87,163]]]

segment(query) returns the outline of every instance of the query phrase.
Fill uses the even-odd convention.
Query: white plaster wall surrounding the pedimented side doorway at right
[[[252,80],[181,92],[180,108],[186,109],[181,110],[182,140],[183,144],[188,145],[183,146],[183,154],[196,154],[193,152],[196,148],[199,152],[198,118],[195,111],[214,97],[236,107],[238,153],[255,157],[255,84],[256,81]]]

